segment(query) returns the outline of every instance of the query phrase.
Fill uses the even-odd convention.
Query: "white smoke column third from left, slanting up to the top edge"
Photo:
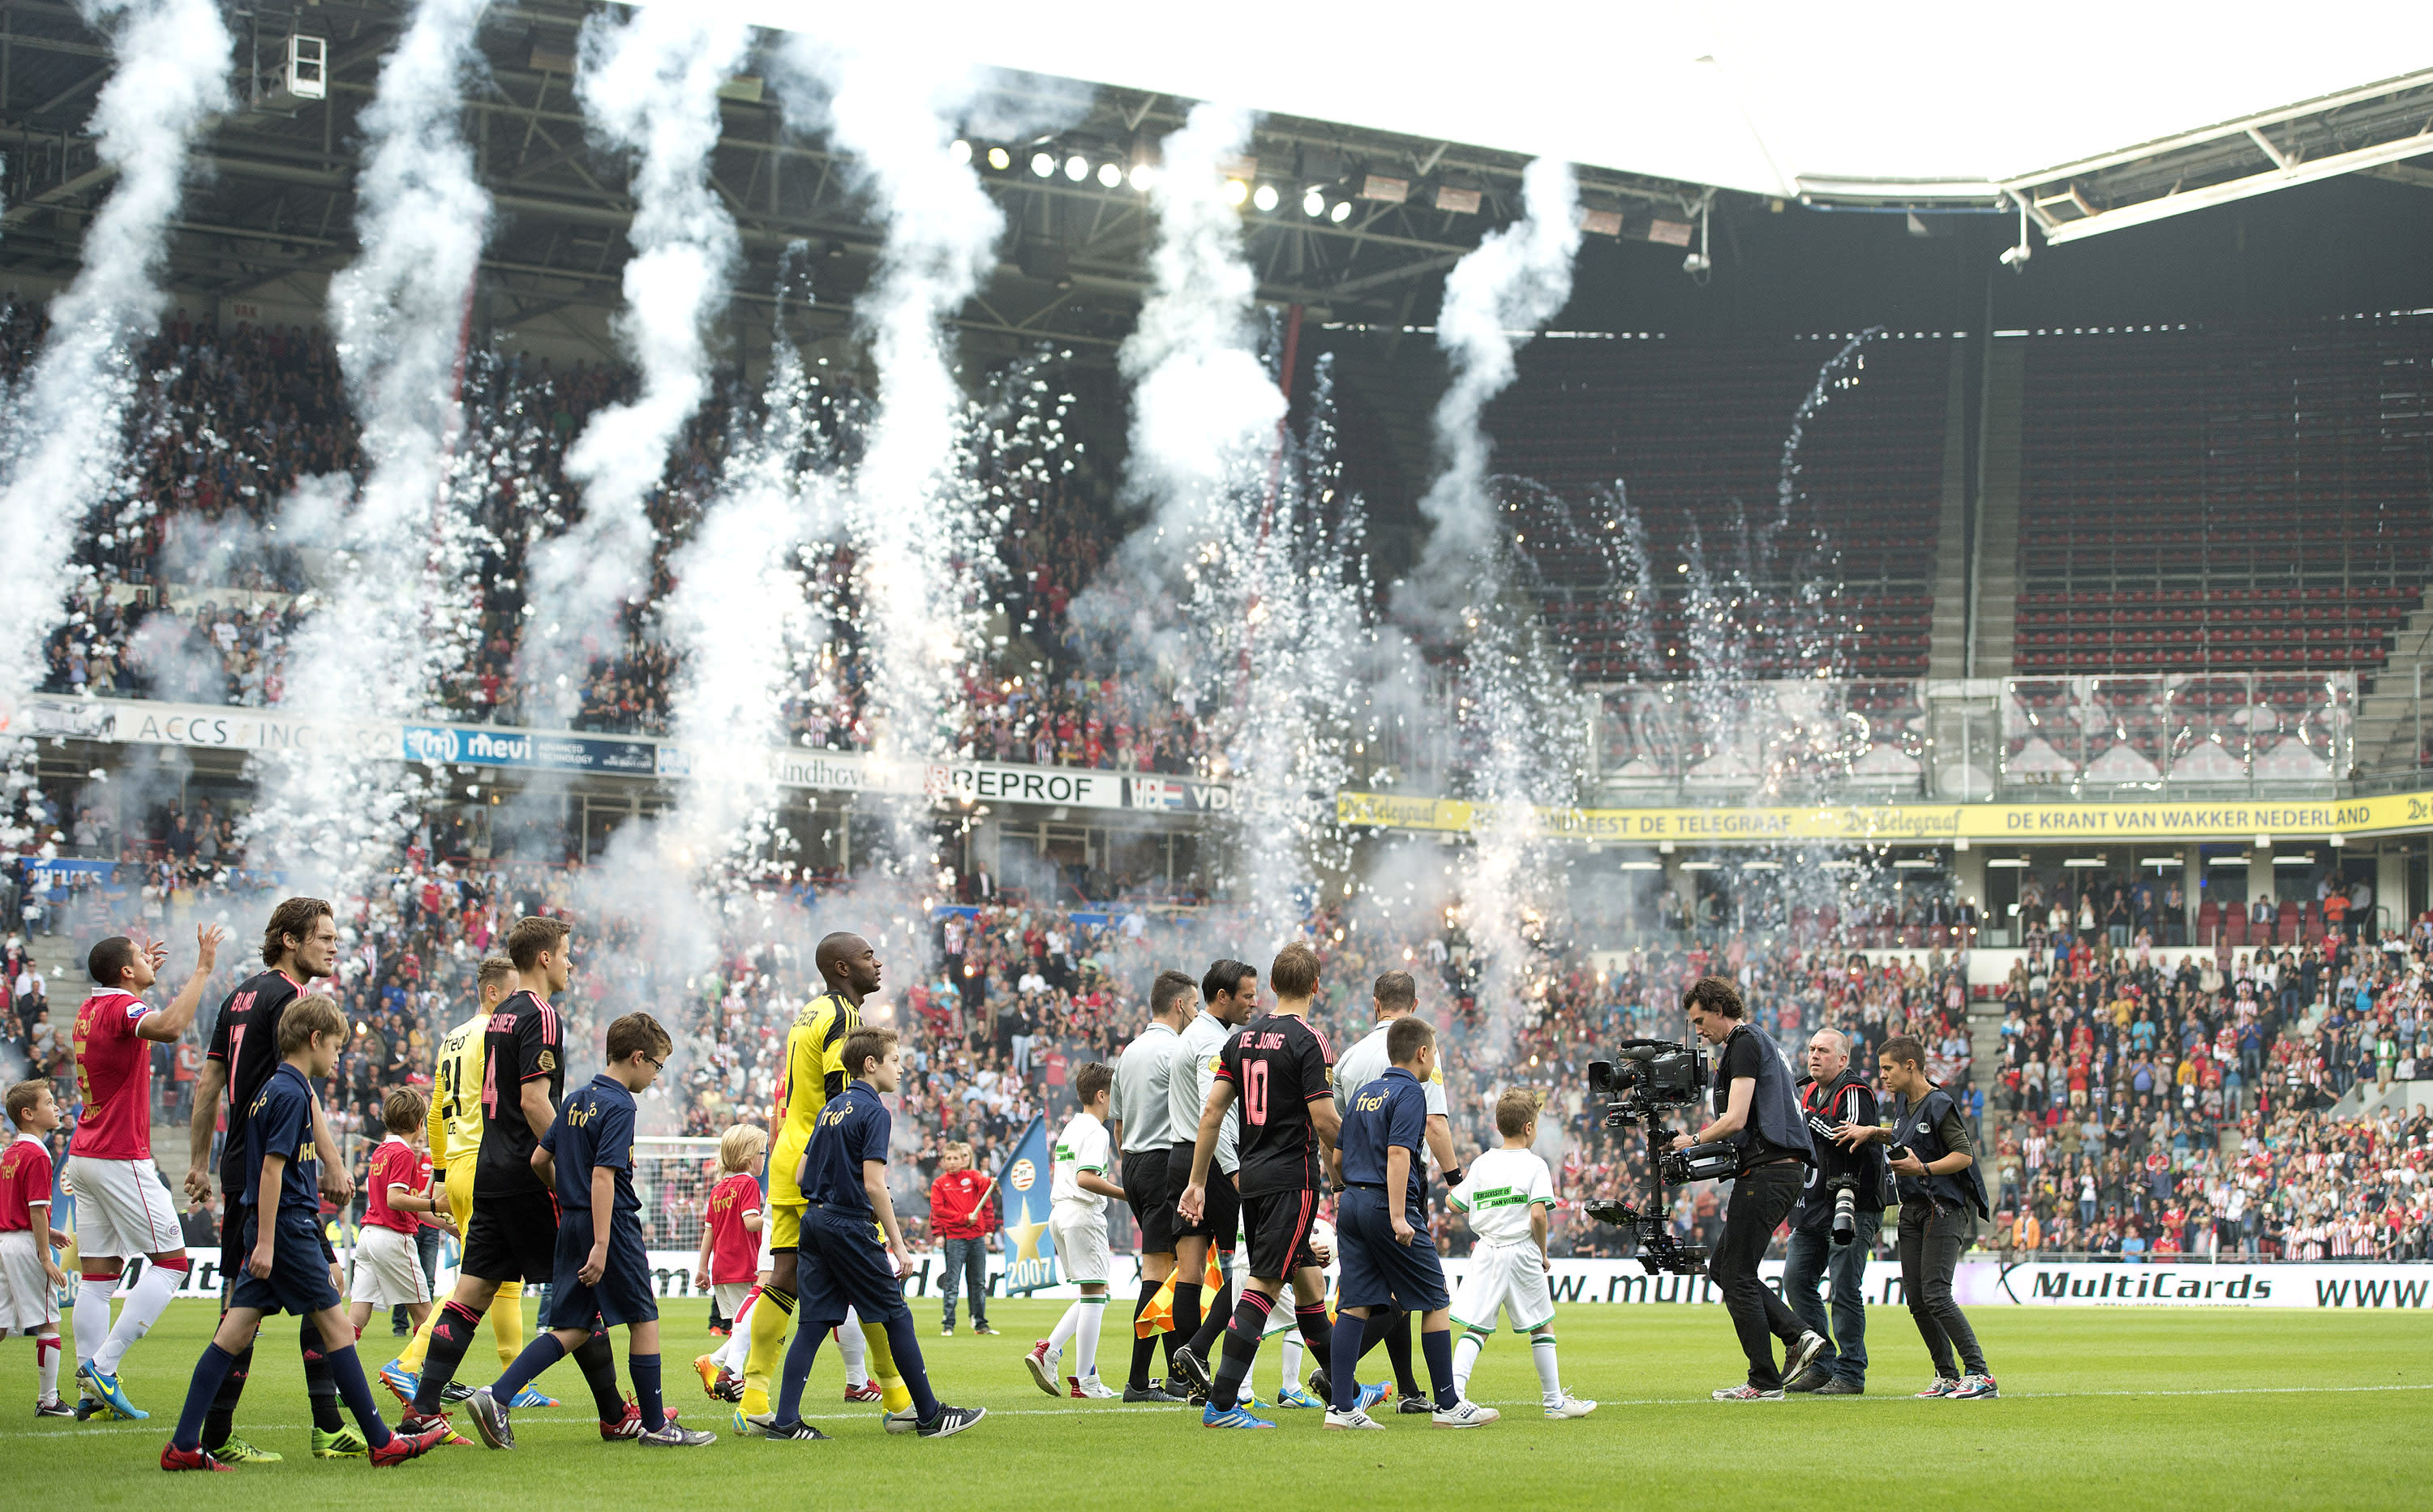
[[[584,486],[581,520],[533,549],[528,603],[538,637],[528,671],[567,688],[560,661],[586,634],[613,651],[618,605],[650,581],[654,532],[642,501],[667,472],[667,452],[710,387],[708,321],[727,299],[740,253],[735,216],[710,187],[718,146],[718,85],[744,58],[747,27],[725,7],[647,5],[630,19],[606,12],[584,24],[574,92],[594,136],[635,153],[633,258],[618,335],[640,367],[642,391],[599,408],[567,450],[567,476]],[[579,671],[579,668],[577,668]]]

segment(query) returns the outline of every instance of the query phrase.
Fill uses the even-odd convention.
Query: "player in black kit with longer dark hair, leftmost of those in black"
[[[263,926],[263,970],[236,985],[236,992],[219,1002],[219,1019],[212,1023],[212,1045],[204,1050],[202,1070],[195,1074],[195,1106],[187,1123],[185,1196],[187,1201],[212,1201],[212,1125],[219,1123],[226,1104],[229,1130],[219,1150],[219,1296],[246,1276],[246,1118],[263,1094],[270,1074],[280,1070],[280,1019],[290,1004],[304,997],[304,985],[328,977],[338,965],[338,919],[319,897],[287,897],[270,909]],[[226,1094],[226,1099],[221,1099]],[[355,1179],[338,1157],[338,1138],[328,1128],[321,1104],[314,1104],[314,1145],[321,1155],[321,1194],[336,1203],[355,1196]],[[338,1252],[328,1237],[321,1252],[338,1264]],[[321,1354],[321,1330],[304,1318],[299,1347],[304,1352],[304,1390],[311,1398],[311,1446],[314,1459],[353,1459],[367,1451],[363,1437],[338,1412],[338,1381]],[[202,1420],[202,1446],[221,1463],[265,1461],[253,1444],[236,1437],[236,1403],[246,1393],[246,1376],[253,1371],[253,1344],[236,1356],[212,1410]]]

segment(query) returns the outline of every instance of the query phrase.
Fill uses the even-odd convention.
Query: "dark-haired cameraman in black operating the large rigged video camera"
[[[1708,1279],[1723,1291],[1723,1308],[1749,1356],[1747,1386],[1727,1386],[1718,1403],[1779,1403],[1783,1371],[1798,1376],[1825,1354],[1825,1335],[1757,1279],[1757,1262],[1800,1196],[1805,1167],[1815,1164],[1800,1099],[1793,1091],[1791,1062],[1766,1036],[1742,1016],[1740,987],[1730,977],[1701,977],[1684,994],[1689,1026],[1708,1045],[1723,1045],[1715,1067],[1715,1121],[1696,1135],[1674,1135],[1674,1150],[1727,1140],[1740,1147],[1732,1172],[1732,1201],[1723,1211],[1723,1242],[1708,1262]],[[1774,1369],[1774,1339],[1786,1344],[1783,1371]]]

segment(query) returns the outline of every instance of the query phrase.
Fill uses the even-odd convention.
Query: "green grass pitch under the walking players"
[[[560,1364],[543,1388],[572,1405],[518,1412],[513,1456],[443,1449],[360,1485],[360,1461],[304,1454],[302,1366],[272,1320],[238,1432],[287,1454],[236,1476],[165,1478],[156,1468],[212,1325],[200,1303],[168,1318],[127,1359],[124,1381],[151,1422],[36,1420],[32,1344],[0,1344],[0,1476],[44,1485],[78,1505],[331,1507],[399,1497],[411,1507],[569,1507],[616,1497],[625,1507],[817,1505],[1080,1512],[1161,1502],[1241,1500],[1253,1507],[1698,1507],[1791,1505],[1834,1495],[1873,1507],[2423,1507],[2433,1451],[2433,1318],[2418,1313],[2233,1313],[2051,1308],[1976,1313],[2002,1381],[1997,1403],[1917,1403],[1927,1359],[1905,1313],[1871,1315],[1866,1398],[1766,1405],[1706,1400],[1740,1373],[1720,1308],[1569,1308],[1560,1320],[1564,1381],[1603,1407],[1579,1422],[1538,1417],[1528,1349],[1496,1337],[1472,1395],[1506,1420],[1470,1434],[1387,1417],[1384,1434],[1328,1434],[1316,1412],[1282,1412],[1272,1434],[1219,1434],[1180,1407],[1049,1400],[1019,1356],[1058,1315],[1056,1303],[998,1303],[1002,1337],[934,1337],[937,1303],[917,1303],[932,1381],[951,1403],[990,1410],[944,1442],[888,1437],[873,1410],[839,1398],[839,1361],[822,1352],[813,1417],[832,1444],[720,1439],[696,1451],[601,1444],[584,1386]],[[1109,1320],[1112,1325],[1114,1320]],[[672,1303],[667,1383],[686,1420],[723,1427],[684,1364],[701,1349],[703,1305]],[[384,1322],[365,1339],[377,1369]],[[487,1335],[484,1335],[487,1344]],[[1122,1339],[1109,1327],[1107,1371]],[[477,1349],[474,1378],[491,1354]],[[1382,1369],[1382,1356],[1372,1356]],[[1260,1356],[1272,1393],[1277,1361]],[[1382,1371],[1380,1371],[1382,1373]],[[392,1405],[382,1395],[384,1410]],[[1248,1456],[1248,1459],[1246,1459]],[[1255,1480],[1243,1480],[1251,1463]],[[2406,1466],[2416,1466],[2409,1471]],[[808,1478],[805,1478],[808,1471]],[[837,1471],[852,1471],[839,1476]],[[1827,1488],[1837,1476],[1844,1490]],[[438,1497],[438,1500],[431,1500]],[[487,1497],[487,1500],[484,1500]],[[32,1502],[29,1502],[32,1505]],[[66,1502],[61,1502],[66,1505]]]

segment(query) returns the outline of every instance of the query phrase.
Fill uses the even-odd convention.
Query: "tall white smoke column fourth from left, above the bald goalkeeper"
[[[788,46],[788,114],[825,114],[827,141],[886,231],[856,318],[878,374],[849,491],[873,751],[890,761],[954,756],[966,676],[980,649],[983,493],[966,447],[968,401],[946,321],[995,265],[1005,216],[978,170],[949,153],[983,88],[976,68],[900,19],[837,10]],[[898,805],[898,861],[932,870],[927,807]]]

